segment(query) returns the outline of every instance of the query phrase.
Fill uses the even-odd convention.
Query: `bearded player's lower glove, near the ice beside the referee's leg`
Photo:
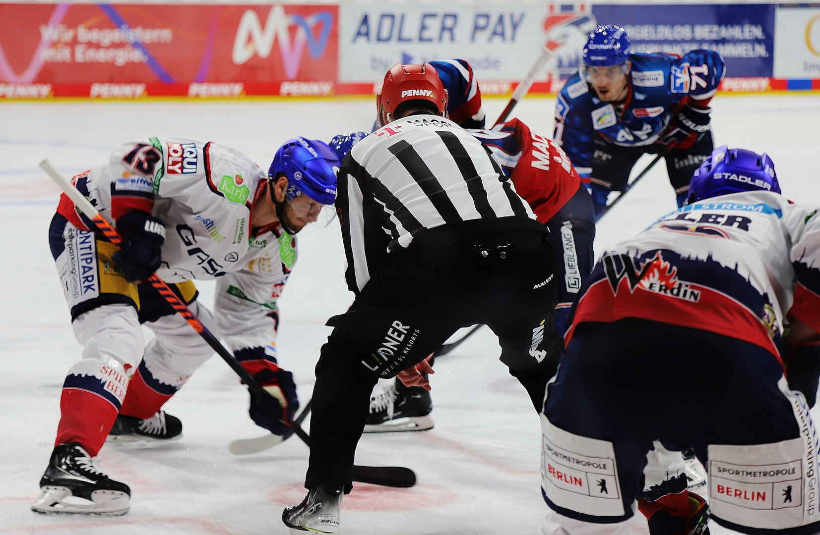
[[[251,392],[248,414],[259,427],[275,435],[284,435],[294,424],[299,408],[294,375],[276,365],[276,358],[267,355],[264,347],[248,347],[235,351],[239,364],[271,397],[262,399]]]

